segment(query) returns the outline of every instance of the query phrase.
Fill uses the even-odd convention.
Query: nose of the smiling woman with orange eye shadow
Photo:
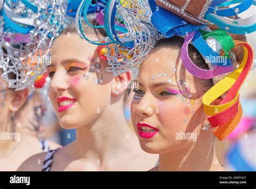
[[[56,70],[51,79],[49,89],[53,92],[58,92],[59,90],[68,90],[69,83],[65,81],[65,73]]]

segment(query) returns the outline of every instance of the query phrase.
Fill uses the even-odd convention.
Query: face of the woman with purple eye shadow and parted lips
[[[154,49],[140,66],[139,90],[131,118],[140,146],[149,153],[166,153],[192,145],[206,116],[203,93],[181,64],[178,50]]]

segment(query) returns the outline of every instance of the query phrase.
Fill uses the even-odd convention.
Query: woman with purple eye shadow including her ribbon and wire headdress
[[[218,10],[211,2],[150,0],[125,6],[119,1],[109,6],[105,30],[118,44],[109,49],[123,48],[127,54],[121,60],[111,53],[107,58],[114,75],[120,73],[116,66],[139,65],[131,117],[142,149],[159,154],[151,171],[224,171],[215,139],[225,139],[240,122],[239,90],[253,62],[244,33],[255,31],[255,19],[243,22],[239,8],[220,4]],[[113,20],[125,26],[120,29]]]

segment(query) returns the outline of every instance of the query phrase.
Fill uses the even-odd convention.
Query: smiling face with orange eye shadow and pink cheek
[[[95,122],[110,105],[113,76],[105,71],[107,60],[99,58],[96,48],[76,33],[60,36],[53,44],[49,97],[65,129]]]

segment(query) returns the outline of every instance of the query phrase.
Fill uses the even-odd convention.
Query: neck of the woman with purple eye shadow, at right
[[[202,133],[203,132],[203,133]],[[214,141],[202,131],[193,144],[182,149],[159,154],[158,171],[223,171],[218,163]],[[208,131],[211,132],[211,131]]]

